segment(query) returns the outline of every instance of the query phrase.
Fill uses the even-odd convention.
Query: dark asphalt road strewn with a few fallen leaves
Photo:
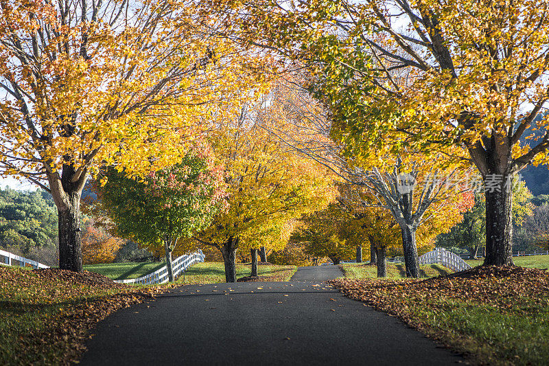
[[[185,286],[102,321],[82,365],[454,365],[462,358],[334,288],[300,282]]]

